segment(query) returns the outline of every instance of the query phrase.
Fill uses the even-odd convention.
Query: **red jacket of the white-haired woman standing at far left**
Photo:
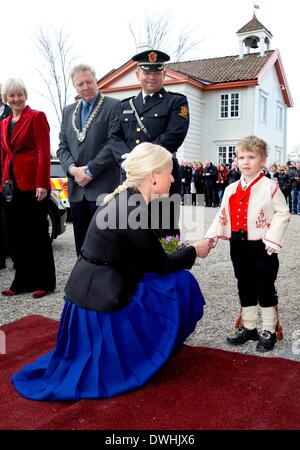
[[[37,187],[50,189],[50,128],[46,115],[26,106],[8,138],[12,114],[2,120],[1,166],[2,184],[10,177],[10,165],[21,191]],[[14,158],[14,151],[16,156]]]

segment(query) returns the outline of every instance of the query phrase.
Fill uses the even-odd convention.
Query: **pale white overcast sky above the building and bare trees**
[[[136,53],[129,23],[136,33],[146,16],[167,14],[170,43],[182,30],[192,33],[197,47],[185,59],[238,54],[236,35],[253,16],[253,0],[14,0],[1,4],[0,82],[9,77],[24,80],[28,104],[46,112],[51,126],[52,147],[57,146],[59,127],[51,105],[38,93],[43,89],[37,68],[41,58],[34,35],[39,28],[63,28],[70,35],[75,63],[91,64],[97,77],[118,68]],[[288,110],[287,153],[300,148],[300,83],[298,0],[256,0],[256,15],[271,31],[271,48],[278,48],[292,93],[294,107]],[[141,35],[141,41],[143,36]],[[75,91],[74,91],[75,95]]]

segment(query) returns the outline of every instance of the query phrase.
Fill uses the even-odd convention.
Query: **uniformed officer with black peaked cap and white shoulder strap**
[[[142,90],[136,97],[121,102],[110,133],[111,149],[119,163],[141,142],[159,144],[173,154],[174,183],[170,196],[176,193],[179,200],[173,202],[175,212],[172,212],[171,203],[173,217],[169,228],[160,230],[162,236],[179,232],[181,178],[176,151],[183,143],[189,127],[187,98],[163,88],[166,75],[164,63],[169,59],[166,53],[158,50],[147,50],[133,56],[132,60],[137,62],[136,76]]]

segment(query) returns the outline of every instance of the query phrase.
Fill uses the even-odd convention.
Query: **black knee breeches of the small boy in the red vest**
[[[261,240],[232,238],[230,256],[237,278],[241,306],[277,305],[275,281],[279,268],[278,255],[268,255]]]

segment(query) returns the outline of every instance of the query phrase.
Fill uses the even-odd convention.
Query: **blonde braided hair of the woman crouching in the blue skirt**
[[[127,188],[138,188],[151,172],[162,172],[172,160],[172,154],[160,145],[143,142],[137,145],[124,161],[126,180],[114,192],[104,197],[109,203],[116,195]]]

